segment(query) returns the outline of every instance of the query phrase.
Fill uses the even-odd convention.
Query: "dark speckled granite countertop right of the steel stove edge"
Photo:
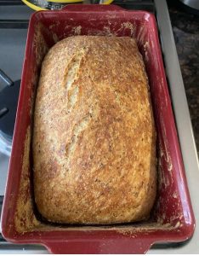
[[[199,16],[170,3],[169,14],[199,156]]]

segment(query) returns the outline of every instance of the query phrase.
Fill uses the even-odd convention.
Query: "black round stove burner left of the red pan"
[[[0,151],[4,154],[10,154],[20,80],[13,82],[2,70],[0,70],[0,77],[7,84],[0,91]]]

